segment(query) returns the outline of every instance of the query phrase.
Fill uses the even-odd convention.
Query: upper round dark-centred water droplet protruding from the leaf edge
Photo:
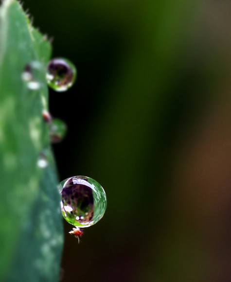
[[[47,65],[46,79],[48,85],[55,91],[66,91],[76,79],[75,66],[64,58],[55,58]]]

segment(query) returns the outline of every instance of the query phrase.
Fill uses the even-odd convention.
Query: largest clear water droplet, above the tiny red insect
[[[87,176],[73,176],[60,182],[63,217],[74,226],[89,227],[98,222],[107,207],[103,187]]]

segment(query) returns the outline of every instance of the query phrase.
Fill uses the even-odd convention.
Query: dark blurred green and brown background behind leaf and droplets
[[[50,110],[60,180],[96,179],[107,211],[62,282],[231,281],[231,2],[24,0],[78,69]]]

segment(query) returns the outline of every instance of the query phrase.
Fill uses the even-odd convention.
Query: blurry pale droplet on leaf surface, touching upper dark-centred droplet
[[[31,90],[37,90],[42,86],[43,67],[38,61],[32,61],[27,64],[21,74],[21,78],[26,82]]]

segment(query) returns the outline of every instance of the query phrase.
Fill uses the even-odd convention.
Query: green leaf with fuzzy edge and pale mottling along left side
[[[62,218],[50,148],[45,67],[51,45],[16,0],[0,6],[0,281],[58,281]],[[21,79],[41,63],[37,90]],[[43,152],[48,166],[37,166]]]

